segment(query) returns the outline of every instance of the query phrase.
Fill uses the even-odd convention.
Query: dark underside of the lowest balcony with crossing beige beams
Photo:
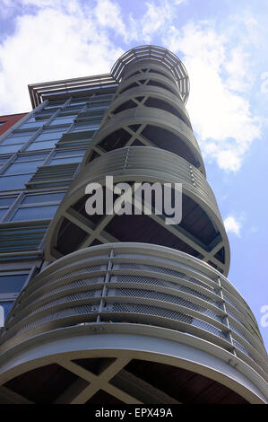
[[[87,336],[87,339],[97,340],[98,344],[99,335]],[[106,339],[114,344],[122,341],[118,335]],[[133,342],[139,340],[143,338],[135,335]],[[156,346],[153,340],[152,343]],[[48,345],[53,347],[51,343]],[[44,356],[17,367],[17,375],[0,386],[0,404],[246,404],[263,401],[243,391],[241,386],[234,388],[232,382],[230,386],[220,383],[212,371],[200,369],[206,375],[196,372],[194,365],[186,360],[137,349],[126,353],[84,349]]]

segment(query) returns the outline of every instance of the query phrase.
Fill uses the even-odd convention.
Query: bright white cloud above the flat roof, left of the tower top
[[[64,3],[17,17],[15,33],[0,45],[0,114],[30,110],[28,84],[108,73],[123,54],[96,24],[91,8]]]

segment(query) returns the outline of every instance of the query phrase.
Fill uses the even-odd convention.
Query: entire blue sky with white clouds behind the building
[[[127,49],[169,48],[229,233],[229,280],[260,324],[268,306],[268,3],[2,0],[0,115],[30,110],[28,84],[108,73]],[[268,321],[268,318],[266,318]],[[268,347],[268,327],[260,327]]]

